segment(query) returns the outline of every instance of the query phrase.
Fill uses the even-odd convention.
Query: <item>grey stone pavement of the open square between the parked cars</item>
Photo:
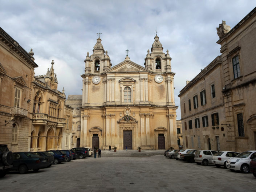
[[[0,179],[1,192],[255,192],[256,178],[163,155],[93,157]]]

